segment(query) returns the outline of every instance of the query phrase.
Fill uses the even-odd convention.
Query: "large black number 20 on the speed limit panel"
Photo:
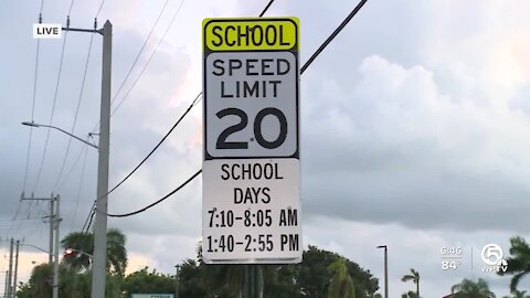
[[[229,115],[235,115],[240,117],[240,123],[235,124],[233,126],[229,126],[226,129],[223,130],[219,135],[218,142],[215,143],[216,149],[248,149],[248,142],[247,141],[226,141],[226,138],[230,137],[230,135],[237,132],[246,127],[248,124],[248,116],[244,110],[241,110],[239,108],[225,108],[218,114],[215,114],[218,118],[223,118]],[[278,137],[273,140],[268,141],[263,137],[262,132],[262,123],[265,116],[273,115],[275,116],[278,121],[279,121],[279,134]],[[267,107],[259,113],[257,113],[256,118],[254,119],[254,136],[256,138],[257,143],[259,143],[263,148],[266,149],[276,149],[279,146],[282,146],[287,138],[287,118],[285,118],[285,115],[282,110],[273,107]]]

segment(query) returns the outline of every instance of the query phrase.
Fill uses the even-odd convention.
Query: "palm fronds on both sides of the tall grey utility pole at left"
[[[118,276],[125,274],[127,268],[126,236],[117,228],[107,231],[107,272]],[[65,255],[63,262],[77,272],[92,268],[94,255],[94,234],[75,232],[66,235],[62,241],[63,248],[74,248],[85,254]]]

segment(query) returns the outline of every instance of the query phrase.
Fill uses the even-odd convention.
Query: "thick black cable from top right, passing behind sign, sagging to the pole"
[[[307,67],[309,67],[309,65],[312,63],[312,61],[315,61],[315,58],[324,51],[324,49],[339,34],[339,32],[346,26],[346,24],[353,18],[353,15],[357,14],[357,12],[362,8],[362,6],[367,2],[367,0],[361,0],[361,2],[359,2],[359,4],[353,9],[353,11],[346,18],[346,20],[333,31],[333,33],[331,33],[331,35],[318,47],[318,50],[311,55],[311,57],[304,64],[304,66],[300,68],[300,75],[307,70]],[[179,119],[180,120],[180,119]],[[161,199],[159,199],[158,201],[140,209],[140,210],[137,210],[137,211],[134,211],[134,212],[129,212],[129,213],[124,213],[124,214],[105,214],[107,216],[110,216],[110,217],[127,217],[127,216],[131,216],[131,215],[135,215],[135,214],[138,214],[138,213],[141,213],[159,203],[161,203],[162,201],[165,201],[166,199],[168,199],[169,196],[171,196],[172,194],[174,194],[177,191],[179,191],[180,189],[182,189],[186,184],[188,184],[189,182],[191,182],[195,177],[198,177],[200,173],[202,172],[202,169],[197,171],[192,177],[190,177],[184,183],[182,183],[181,185],[179,185],[177,189],[172,190],[170,193],[166,194],[165,196],[162,196]],[[100,211],[97,211],[97,212],[100,212]]]

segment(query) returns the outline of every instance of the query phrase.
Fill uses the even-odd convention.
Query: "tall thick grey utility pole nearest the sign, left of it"
[[[94,267],[92,270],[92,298],[105,297],[107,263],[107,193],[108,146],[110,131],[110,72],[113,56],[113,25],[103,26],[102,104],[99,114],[99,153],[97,163],[97,201],[94,223]]]

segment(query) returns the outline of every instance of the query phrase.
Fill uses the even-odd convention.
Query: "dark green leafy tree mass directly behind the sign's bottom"
[[[370,272],[338,254],[309,246],[304,252],[300,264],[262,265],[264,298],[325,298],[338,273],[330,265],[341,259],[351,277],[356,298],[373,298],[378,290],[378,279]],[[181,297],[194,298],[239,298],[244,283],[243,265],[206,265],[202,252],[198,249],[198,260],[188,259],[181,265]],[[341,284],[341,283],[338,283]]]

